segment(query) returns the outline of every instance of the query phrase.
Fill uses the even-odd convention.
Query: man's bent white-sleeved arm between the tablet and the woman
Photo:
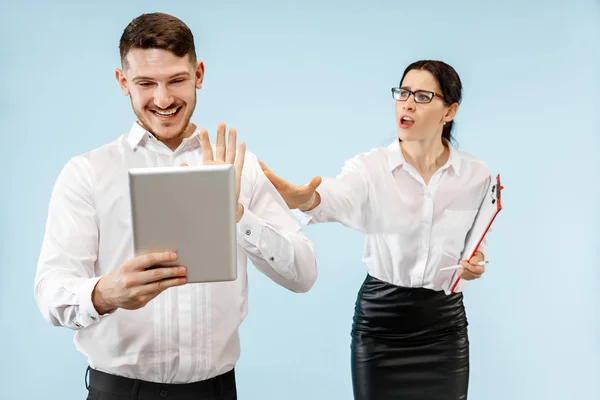
[[[248,206],[237,224],[238,244],[252,264],[274,282],[293,291],[307,292],[317,279],[313,244],[262,172],[256,156],[247,153],[244,169],[250,193]]]

